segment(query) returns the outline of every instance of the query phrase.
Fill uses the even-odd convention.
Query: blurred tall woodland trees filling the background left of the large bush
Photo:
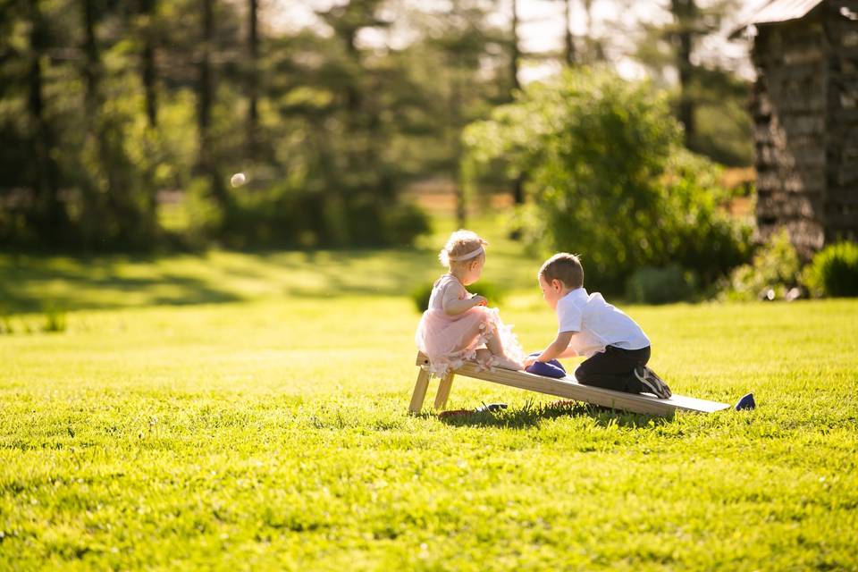
[[[0,244],[408,244],[426,178],[462,220],[461,134],[517,93],[522,5],[343,0],[286,29],[260,0],[0,0]],[[568,18],[562,39],[540,57],[605,57]],[[520,167],[481,181],[519,190]]]

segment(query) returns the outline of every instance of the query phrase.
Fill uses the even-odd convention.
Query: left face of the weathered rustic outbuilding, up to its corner
[[[757,227],[761,240],[787,227],[803,257],[825,241],[828,65],[812,16],[761,26],[753,48]]]

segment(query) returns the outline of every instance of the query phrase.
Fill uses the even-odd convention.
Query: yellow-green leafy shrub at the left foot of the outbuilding
[[[772,235],[749,265],[741,265],[721,284],[721,299],[788,299],[795,297],[801,262],[786,230]],[[790,292],[793,292],[792,294]]]

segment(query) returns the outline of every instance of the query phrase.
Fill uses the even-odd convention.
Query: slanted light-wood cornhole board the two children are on
[[[429,359],[423,353],[417,353],[416,365],[420,366],[414,394],[411,396],[409,410],[419,413],[423,408],[426,389],[429,387],[431,374],[424,368]],[[675,411],[695,411],[697,413],[714,413],[730,407],[727,403],[718,401],[697,400],[684,395],[673,395],[669,400],[660,400],[649,393],[624,393],[623,391],[604,390],[577,383],[576,379],[567,375],[562,379],[543,377],[542,375],[514,372],[509,369],[496,368],[495,371],[479,370],[475,364],[466,363],[457,370],[445,375],[438,384],[435,396],[435,408],[443,409],[450,396],[450,387],[455,375],[482,379],[486,382],[501,383],[527,391],[538,391],[548,395],[556,395],[568,400],[584,401],[606,408],[622,409],[632,413],[644,413],[653,416],[671,416]]]

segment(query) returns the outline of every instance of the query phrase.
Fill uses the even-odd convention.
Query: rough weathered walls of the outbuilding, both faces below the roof
[[[753,47],[759,238],[786,227],[804,258],[858,238],[858,21],[840,4],[763,24]]]

